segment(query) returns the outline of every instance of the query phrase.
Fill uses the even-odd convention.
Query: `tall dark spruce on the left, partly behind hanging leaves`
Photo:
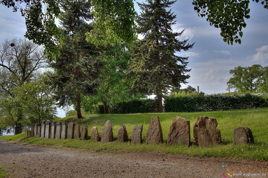
[[[81,94],[95,93],[98,86],[100,50],[86,40],[86,33],[92,30],[90,1],[62,0],[61,7],[64,43],[59,45],[59,57],[51,60],[55,98],[59,106],[76,105],[77,117],[82,118]]]

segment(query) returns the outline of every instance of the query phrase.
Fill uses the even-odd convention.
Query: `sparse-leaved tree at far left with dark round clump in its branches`
[[[10,112],[15,122],[15,134],[22,132],[23,111],[17,102],[15,90],[32,81],[35,73],[46,66],[46,56],[41,46],[26,39],[5,40],[0,46],[1,98],[10,100]],[[15,119],[16,118],[16,119]]]

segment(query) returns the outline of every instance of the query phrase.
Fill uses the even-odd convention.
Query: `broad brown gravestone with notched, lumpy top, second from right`
[[[197,117],[193,125],[194,143],[202,147],[221,143],[221,132],[217,126],[217,120],[213,117]]]

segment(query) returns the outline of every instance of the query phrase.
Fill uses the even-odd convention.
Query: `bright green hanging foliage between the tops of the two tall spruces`
[[[87,34],[87,40],[95,45],[107,46],[135,39],[135,9],[132,0],[91,1],[93,30]]]

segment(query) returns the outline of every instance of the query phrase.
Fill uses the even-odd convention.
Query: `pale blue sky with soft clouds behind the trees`
[[[137,2],[141,2],[138,0]],[[134,2],[135,3],[135,2]],[[177,14],[174,31],[185,30],[181,39],[189,39],[195,45],[189,51],[182,51],[178,56],[189,57],[188,68],[192,68],[187,85],[206,94],[226,92],[226,82],[232,77],[229,70],[237,66],[260,64],[268,66],[268,10],[261,3],[250,2],[250,19],[243,29],[242,43],[228,45],[223,42],[220,30],[210,26],[206,18],[198,17],[193,10],[192,1],[178,0],[172,6]],[[139,11],[135,3],[135,9]],[[5,38],[23,38],[25,20],[20,12],[0,5],[0,42]],[[231,89],[232,91],[232,89]],[[60,116],[64,116],[60,111]]]

